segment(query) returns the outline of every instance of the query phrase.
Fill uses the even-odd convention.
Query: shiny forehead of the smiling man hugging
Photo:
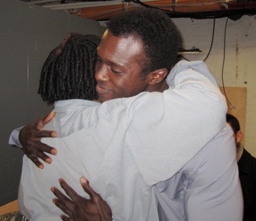
[[[145,57],[142,41],[134,35],[114,36],[110,31],[105,31],[101,43],[97,48],[101,60],[115,64],[136,62]]]

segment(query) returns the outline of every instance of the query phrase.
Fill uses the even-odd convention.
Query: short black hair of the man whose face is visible
[[[142,63],[142,75],[160,68],[170,72],[177,60],[179,31],[164,12],[152,8],[137,8],[111,18],[108,30],[114,36],[134,35],[144,44],[148,60]]]

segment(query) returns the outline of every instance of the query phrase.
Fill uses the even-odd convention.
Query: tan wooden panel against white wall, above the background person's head
[[[246,100],[247,100],[247,88],[246,87],[220,87],[222,94],[230,101],[228,104],[228,113],[237,117],[240,122],[240,129],[245,134],[245,116],[246,116]],[[243,136],[245,137],[245,136]],[[244,139],[242,141],[244,143]]]

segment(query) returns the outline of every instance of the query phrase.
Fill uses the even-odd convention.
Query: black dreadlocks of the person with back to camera
[[[97,99],[94,73],[100,40],[94,35],[70,33],[50,52],[38,89],[44,101]]]

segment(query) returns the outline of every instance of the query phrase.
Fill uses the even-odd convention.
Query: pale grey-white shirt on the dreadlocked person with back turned
[[[175,175],[226,125],[225,97],[203,62],[179,62],[167,83],[163,93],[57,112],[45,129],[63,138],[42,139],[58,149],[53,163],[41,170],[23,159],[21,213],[30,221],[59,220],[50,187],[64,178],[86,196],[79,183],[86,176],[114,220],[158,220],[152,185]],[[63,102],[75,106],[56,105]]]

